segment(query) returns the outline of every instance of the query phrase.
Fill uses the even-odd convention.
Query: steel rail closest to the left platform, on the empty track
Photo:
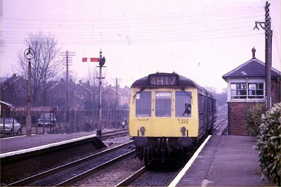
[[[115,151],[115,150],[117,150],[119,148],[122,148],[124,146],[128,146],[131,143],[133,143],[133,141],[129,141],[127,143],[123,143],[122,145],[119,145],[119,146],[116,146],[116,147],[113,147],[113,148],[109,148],[107,150],[103,150],[103,151],[101,151],[99,153],[96,153],[96,154],[93,154],[93,155],[89,155],[87,157],[83,157],[83,158],[81,158],[79,160],[75,160],[75,161],[67,163],[65,165],[62,165],[62,166],[59,166],[59,167],[55,167],[53,169],[49,169],[46,172],[41,172],[39,174],[35,174],[33,176],[27,177],[26,179],[22,179],[20,181],[16,181],[14,183],[10,183],[10,184],[8,184],[6,186],[23,186],[23,185],[26,185],[27,183],[30,183],[32,181],[36,181],[37,179],[41,179],[44,176],[48,176],[48,175],[53,174],[55,172],[60,172],[61,170],[65,169],[65,168],[69,168],[69,167],[74,166],[74,165],[79,165],[82,162],[86,162],[87,160],[93,159],[95,157],[99,157],[101,155],[105,155],[107,153]]]

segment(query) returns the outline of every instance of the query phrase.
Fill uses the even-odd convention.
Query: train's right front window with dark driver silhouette
[[[191,91],[176,91],[176,117],[191,117]]]

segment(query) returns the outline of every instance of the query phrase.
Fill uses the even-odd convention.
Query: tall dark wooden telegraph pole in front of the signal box
[[[271,108],[271,65],[272,65],[272,35],[271,30],[271,18],[269,15],[268,1],[266,1],[265,11],[266,11],[266,21],[265,22],[255,22],[254,29],[259,30],[258,24],[265,30],[266,34],[266,109]],[[264,26],[263,26],[264,25]]]

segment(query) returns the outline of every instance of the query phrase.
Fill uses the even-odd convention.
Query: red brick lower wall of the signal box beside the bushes
[[[247,135],[244,129],[243,110],[248,106],[253,106],[254,102],[228,102],[228,134]]]

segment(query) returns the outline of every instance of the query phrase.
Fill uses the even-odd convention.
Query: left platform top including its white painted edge
[[[74,134],[32,134],[32,136],[13,136],[0,139],[0,157],[13,155],[17,151],[25,152],[39,150],[46,146],[57,146],[58,144],[78,141],[83,138],[96,136],[96,132],[81,132]],[[19,152],[20,154],[20,152]]]

